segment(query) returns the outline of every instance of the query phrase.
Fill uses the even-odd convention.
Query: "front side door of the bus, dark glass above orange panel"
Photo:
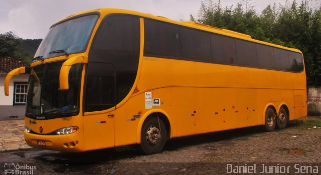
[[[86,149],[115,145],[115,68],[112,64],[89,62],[84,97]]]

